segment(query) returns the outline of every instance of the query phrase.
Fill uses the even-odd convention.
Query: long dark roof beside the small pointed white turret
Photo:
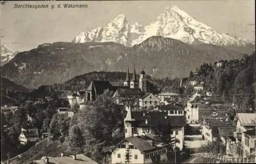
[[[186,124],[186,120],[184,116],[167,116],[167,112],[135,111],[135,112],[132,112],[131,115],[132,115],[132,119],[135,119],[135,121],[132,121],[132,123],[134,124],[134,126],[137,126],[137,127],[141,127],[141,126],[154,127],[159,125],[166,125],[168,123],[170,124],[170,126],[180,127]]]

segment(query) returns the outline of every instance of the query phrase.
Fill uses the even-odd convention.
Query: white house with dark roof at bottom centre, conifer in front
[[[129,163],[167,163],[167,144],[159,142],[151,134],[123,139],[112,149],[112,163],[126,163],[127,153]]]

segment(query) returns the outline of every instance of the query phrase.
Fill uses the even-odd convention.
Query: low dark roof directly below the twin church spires
[[[131,89],[131,88],[118,88],[117,89],[117,97],[142,97],[144,93],[138,88],[138,89]]]

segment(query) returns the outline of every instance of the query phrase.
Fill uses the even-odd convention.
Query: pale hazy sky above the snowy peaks
[[[14,4],[87,4],[86,9],[14,9]],[[148,25],[164,9],[177,6],[211,28],[255,40],[254,0],[242,1],[10,1],[0,7],[1,43],[29,50],[42,43],[72,41],[81,31],[105,26],[118,14],[130,23]]]

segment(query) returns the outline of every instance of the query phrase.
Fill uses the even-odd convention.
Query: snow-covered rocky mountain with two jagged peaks
[[[173,38],[188,44],[206,43],[218,46],[255,44],[253,41],[221,34],[176,6],[165,8],[155,21],[145,26],[137,22],[130,24],[125,15],[120,14],[104,27],[81,32],[73,42],[115,42],[131,47],[152,36]]]

